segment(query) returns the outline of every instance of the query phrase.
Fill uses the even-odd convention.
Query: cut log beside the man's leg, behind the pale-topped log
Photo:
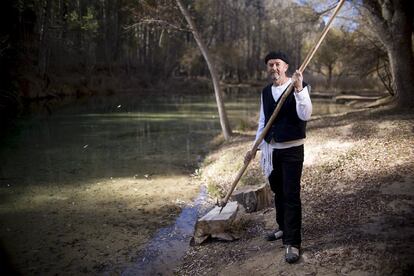
[[[273,207],[273,193],[269,185],[244,186],[233,193],[231,200],[242,205],[247,213]]]

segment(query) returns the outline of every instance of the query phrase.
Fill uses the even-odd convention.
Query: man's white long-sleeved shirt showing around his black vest
[[[288,85],[292,82],[292,79],[289,78],[288,81],[279,86],[272,86],[272,96],[275,102],[277,102],[282,95],[283,91],[288,87]],[[312,102],[309,96],[310,92],[310,86],[305,86],[302,91],[300,92],[293,92],[295,95],[296,100],[296,112],[298,114],[298,117],[303,121],[308,121],[312,115]],[[261,99],[260,104],[260,115],[259,115],[259,124],[257,127],[256,132],[256,140],[259,138],[259,136],[262,134],[263,129],[265,128],[265,115],[263,111],[263,97]],[[262,148],[264,141],[259,145],[259,148]],[[270,146],[272,148],[276,149],[285,149],[290,147],[296,147],[303,145],[305,143],[305,139],[298,139],[293,141],[287,141],[287,142],[275,142],[273,139],[270,142]]]

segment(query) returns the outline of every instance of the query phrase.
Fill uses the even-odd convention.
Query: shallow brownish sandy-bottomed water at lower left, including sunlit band
[[[190,180],[181,175],[79,187],[2,186],[3,247],[23,275],[118,275],[197,195]]]

